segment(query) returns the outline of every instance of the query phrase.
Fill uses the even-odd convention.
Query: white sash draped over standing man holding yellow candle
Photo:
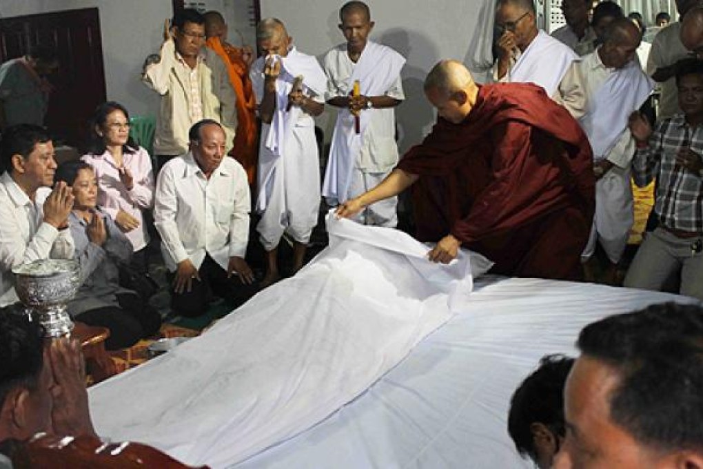
[[[354,67],[351,81],[359,80],[364,96],[383,96],[400,75],[405,62],[406,59],[393,49],[368,41]],[[359,113],[359,134],[354,131],[354,116],[349,109],[340,109],[337,113],[322,188],[325,197],[338,203],[347,200],[354,162],[361,151],[363,134],[373,112],[372,109]]]

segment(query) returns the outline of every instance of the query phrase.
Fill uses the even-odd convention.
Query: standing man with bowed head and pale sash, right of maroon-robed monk
[[[614,20],[602,46],[574,62],[555,94],[555,100],[579,120],[593,148],[595,217],[581,255],[587,280],[593,276],[586,262],[599,241],[611,263],[608,280],[615,281],[634,221],[630,167],[635,143],[628,117],[654,89],[654,82],[633,60],[639,43],[636,25],[627,18]]]

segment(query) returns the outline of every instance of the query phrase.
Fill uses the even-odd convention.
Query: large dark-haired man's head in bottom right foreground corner
[[[703,468],[702,307],[610,316],[577,345],[555,468]]]

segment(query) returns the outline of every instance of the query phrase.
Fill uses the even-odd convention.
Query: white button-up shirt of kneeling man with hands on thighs
[[[206,254],[223,269],[230,257],[244,257],[249,184],[244,168],[233,158],[224,158],[210,179],[191,152],[173,158],[159,172],[154,199],[154,224],[170,271],[186,259],[200,269]]]

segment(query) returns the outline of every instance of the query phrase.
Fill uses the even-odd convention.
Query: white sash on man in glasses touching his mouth
[[[494,64],[493,79],[501,83],[538,84],[552,96],[569,65],[577,58],[579,56],[569,46],[539,30],[524,52],[516,51],[503,77],[498,77],[498,62]]]

